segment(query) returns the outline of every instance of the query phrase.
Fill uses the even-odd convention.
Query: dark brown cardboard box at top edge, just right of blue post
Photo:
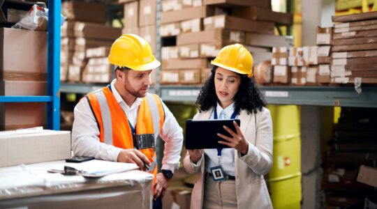
[[[94,22],[105,24],[105,4],[85,1],[64,1],[61,3],[61,14],[67,20]]]

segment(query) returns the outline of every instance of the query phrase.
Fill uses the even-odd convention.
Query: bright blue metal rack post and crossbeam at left
[[[60,129],[60,13],[61,1],[48,2],[47,95],[0,96],[0,102],[47,102],[47,128]]]

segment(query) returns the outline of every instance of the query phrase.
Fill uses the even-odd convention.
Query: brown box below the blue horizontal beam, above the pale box
[[[45,127],[46,106],[45,102],[1,102],[0,130]]]

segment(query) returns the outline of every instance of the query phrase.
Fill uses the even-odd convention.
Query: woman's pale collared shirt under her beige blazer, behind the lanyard
[[[221,111],[226,114],[226,119],[230,119],[235,108],[233,107],[235,102],[230,104],[226,109],[223,109],[219,102],[217,102],[216,112],[217,118],[220,118]],[[214,119],[214,112],[211,114],[210,119]],[[219,157],[217,156],[217,149],[205,149],[205,171],[211,172],[211,167],[219,166]],[[234,148],[223,148],[221,150],[221,167],[223,171],[230,175],[235,176],[235,149]]]

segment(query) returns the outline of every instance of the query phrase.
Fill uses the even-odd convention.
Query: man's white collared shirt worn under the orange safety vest
[[[112,80],[110,84],[112,93],[126,114],[128,121],[135,127],[142,98],[137,98],[131,107],[128,107],[115,88],[115,81],[116,79]],[[163,109],[165,111],[165,121],[160,132],[160,137],[165,141],[165,148],[162,169],[174,171],[179,167],[179,159],[181,157],[183,144],[182,127],[179,126],[172,112],[164,103]],[[82,98],[77,103],[74,116],[75,120],[73,121],[72,128],[73,153],[77,156],[94,156],[96,159],[117,162],[117,157],[122,149],[101,143],[98,137],[100,131],[98,130],[96,118],[91,111],[87,98]]]

